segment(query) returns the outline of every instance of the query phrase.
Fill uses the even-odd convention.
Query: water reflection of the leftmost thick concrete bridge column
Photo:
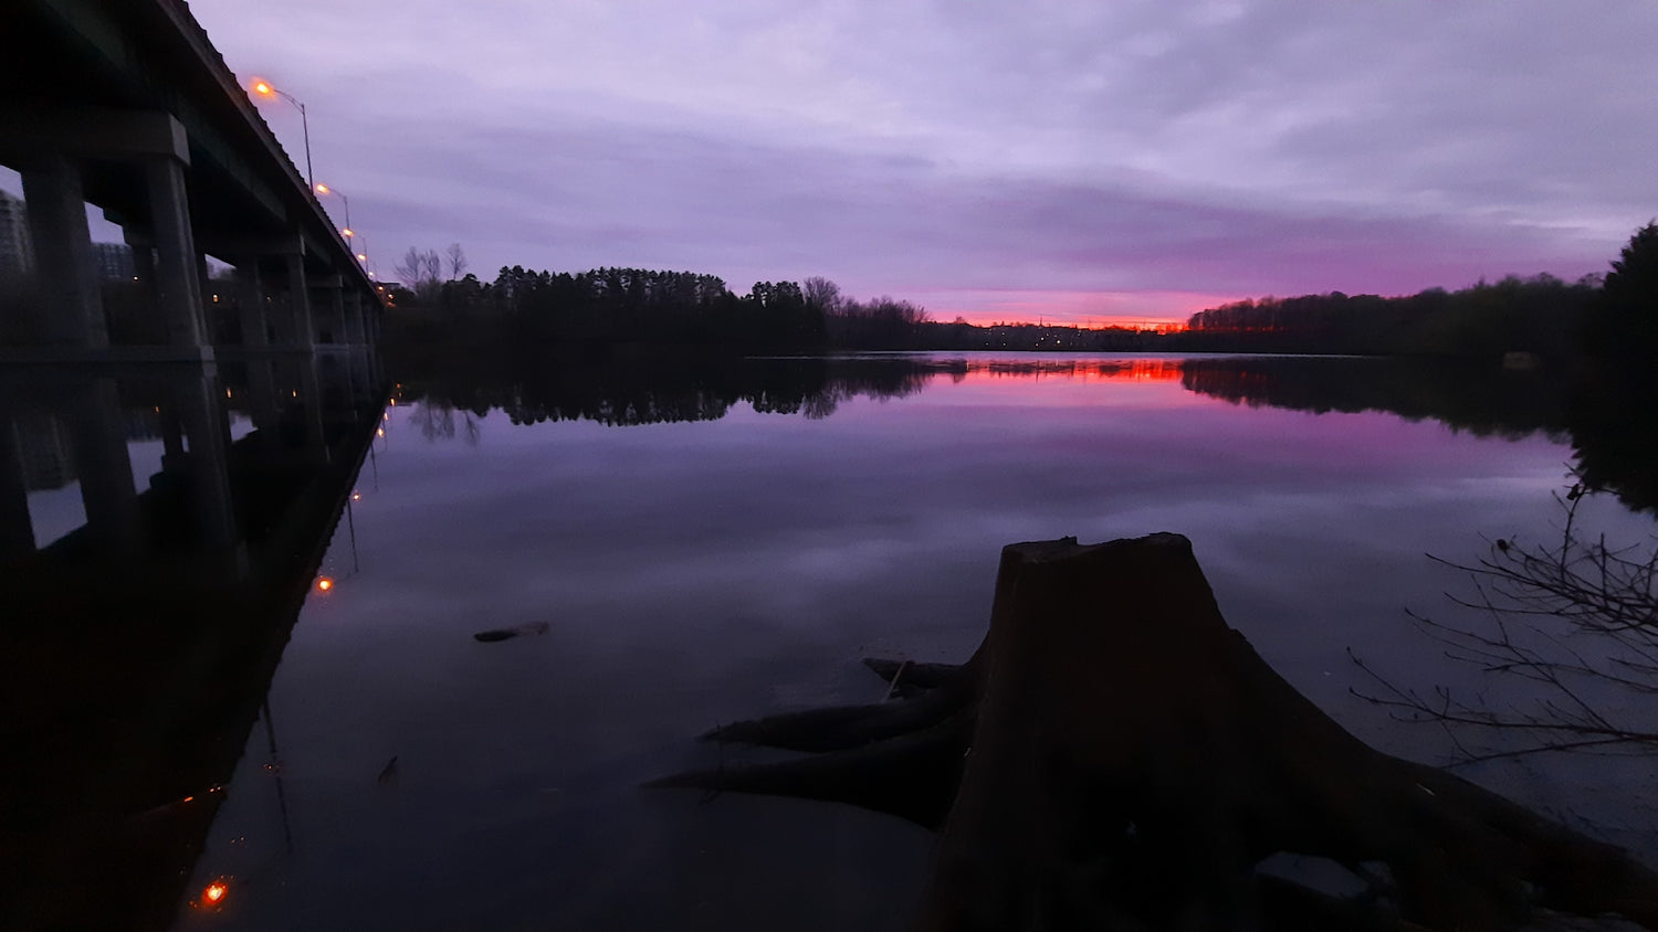
[[[119,550],[134,548],[141,533],[138,490],[114,379],[83,386],[66,414],[88,531]]]

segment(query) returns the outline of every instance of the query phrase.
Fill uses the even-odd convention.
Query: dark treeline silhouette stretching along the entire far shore
[[[456,247],[458,248],[458,247]],[[826,278],[756,281],[733,293],[693,271],[594,268],[582,273],[502,267],[395,291],[386,341],[398,344],[655,344],[739,353],[832,349],[1013,349],[1157,353],[1323,353],[1544,361],[1590,354],[1628,361],[1658,346],[1658,227],[1631,237],[1605,278],[1507,276],[1408,296],[1252,298],[1199,311],[1184,329],[977,326],[940,323],[925,308],[880,296],[857,301]],[[458,267],[459,270],[459,267]],[[428,283],[433,285],[433,283]]]

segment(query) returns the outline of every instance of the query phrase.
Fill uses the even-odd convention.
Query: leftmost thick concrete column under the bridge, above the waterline
[[[109,346],[109,326],[93,265],[80,166],[63,156],[41,156],[22,175],[41,300],[30,321],[33,339],[103,349]]]

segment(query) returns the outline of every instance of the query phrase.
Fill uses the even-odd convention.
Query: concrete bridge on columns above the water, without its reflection
[[[7,0],[0,164],[23,180],[30,253],[0,280],[0,361],[376,341],[375,281],[181,0]],[[121,227],[133,281],[99,276],[88,204]]]

